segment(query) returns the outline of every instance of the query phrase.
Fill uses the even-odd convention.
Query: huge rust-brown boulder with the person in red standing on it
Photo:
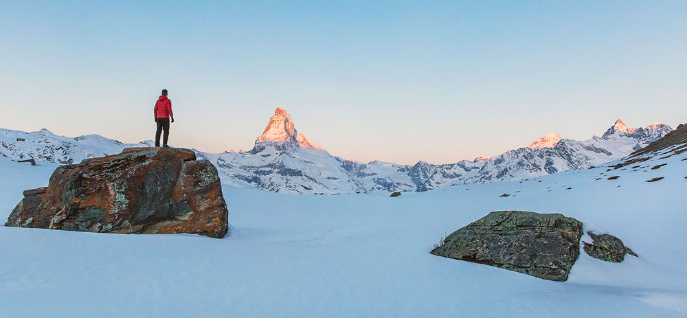
[[[5,226],[223,238],[228,218],[210,161],[188,149],[128,148],[60,166],[46,188],[24,192]]]

